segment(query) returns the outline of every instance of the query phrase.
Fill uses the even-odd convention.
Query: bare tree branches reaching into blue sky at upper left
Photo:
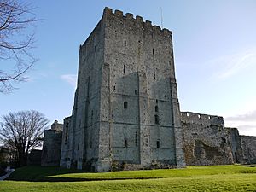
[[[32,6],[21,0],[0,0],[0,92],[13,90],[26,80],[25,73],[37,59],[30,53],[34,44],[32,26],[37,19]]]

